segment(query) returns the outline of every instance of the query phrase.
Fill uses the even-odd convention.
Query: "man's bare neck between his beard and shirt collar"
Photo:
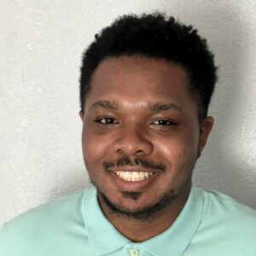
[[[189,192],[190,188],[186,189],[186,191],[180,191],[179,195],[173,199],[168,207],[156,212],[152,218],[147,220],[137,220],[123,215],[116,215],[108,209],[101,199],[99,201],[102,212],[123,236],[131,241],[141,242],[157,236],[171,227],[179,213],[182,212],[189,198]]]

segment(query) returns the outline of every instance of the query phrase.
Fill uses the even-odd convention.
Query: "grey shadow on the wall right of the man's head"
[[[213,46],[219,76],[210,111],[215,126],[194,180],[200,187],[224,192],[256,209],[256,166],[252,155],[251,159],[245,157],[250,151],[247,147],[252,146],[245,142],[245,138],[250,139],[247,130],[253,128],[247,127],[247,102],[241,98],[242,85],[248,75],[244,68],[249,59],[246,51],[248,27],[237,12],[218,3],[218,9],[203,6],[200,13],[186,14],[186,20],[190,18],[195,24],[203,22],[208,27],[206,34],[210,32],[211,36],[206,38]],[[199,20],[201,14],[206,20]]]

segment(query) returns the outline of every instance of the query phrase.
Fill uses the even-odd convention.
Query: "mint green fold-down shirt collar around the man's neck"
[[[201,223],[203,198],[199,189],[192,187],[189,199],[172,226],[148,241],[136,243],[153,255],[182,255]],[[111,253],[132,242],[122,236],[102,213],[96,189],[87,191],[83,206],[84,224],[88,238],[97,255]]]

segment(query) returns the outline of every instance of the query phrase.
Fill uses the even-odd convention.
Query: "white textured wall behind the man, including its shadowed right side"
[[[88,185],[81,54],[118,15],[156,9],[196,26],[219,66],[195,183],[256,208],[255,0],[0,0],[0,225]]]

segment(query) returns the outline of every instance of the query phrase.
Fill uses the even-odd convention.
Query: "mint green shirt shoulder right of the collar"
[[[204,210],[187,254],[256,256],[256,211],[228,195],[198,190]]]

